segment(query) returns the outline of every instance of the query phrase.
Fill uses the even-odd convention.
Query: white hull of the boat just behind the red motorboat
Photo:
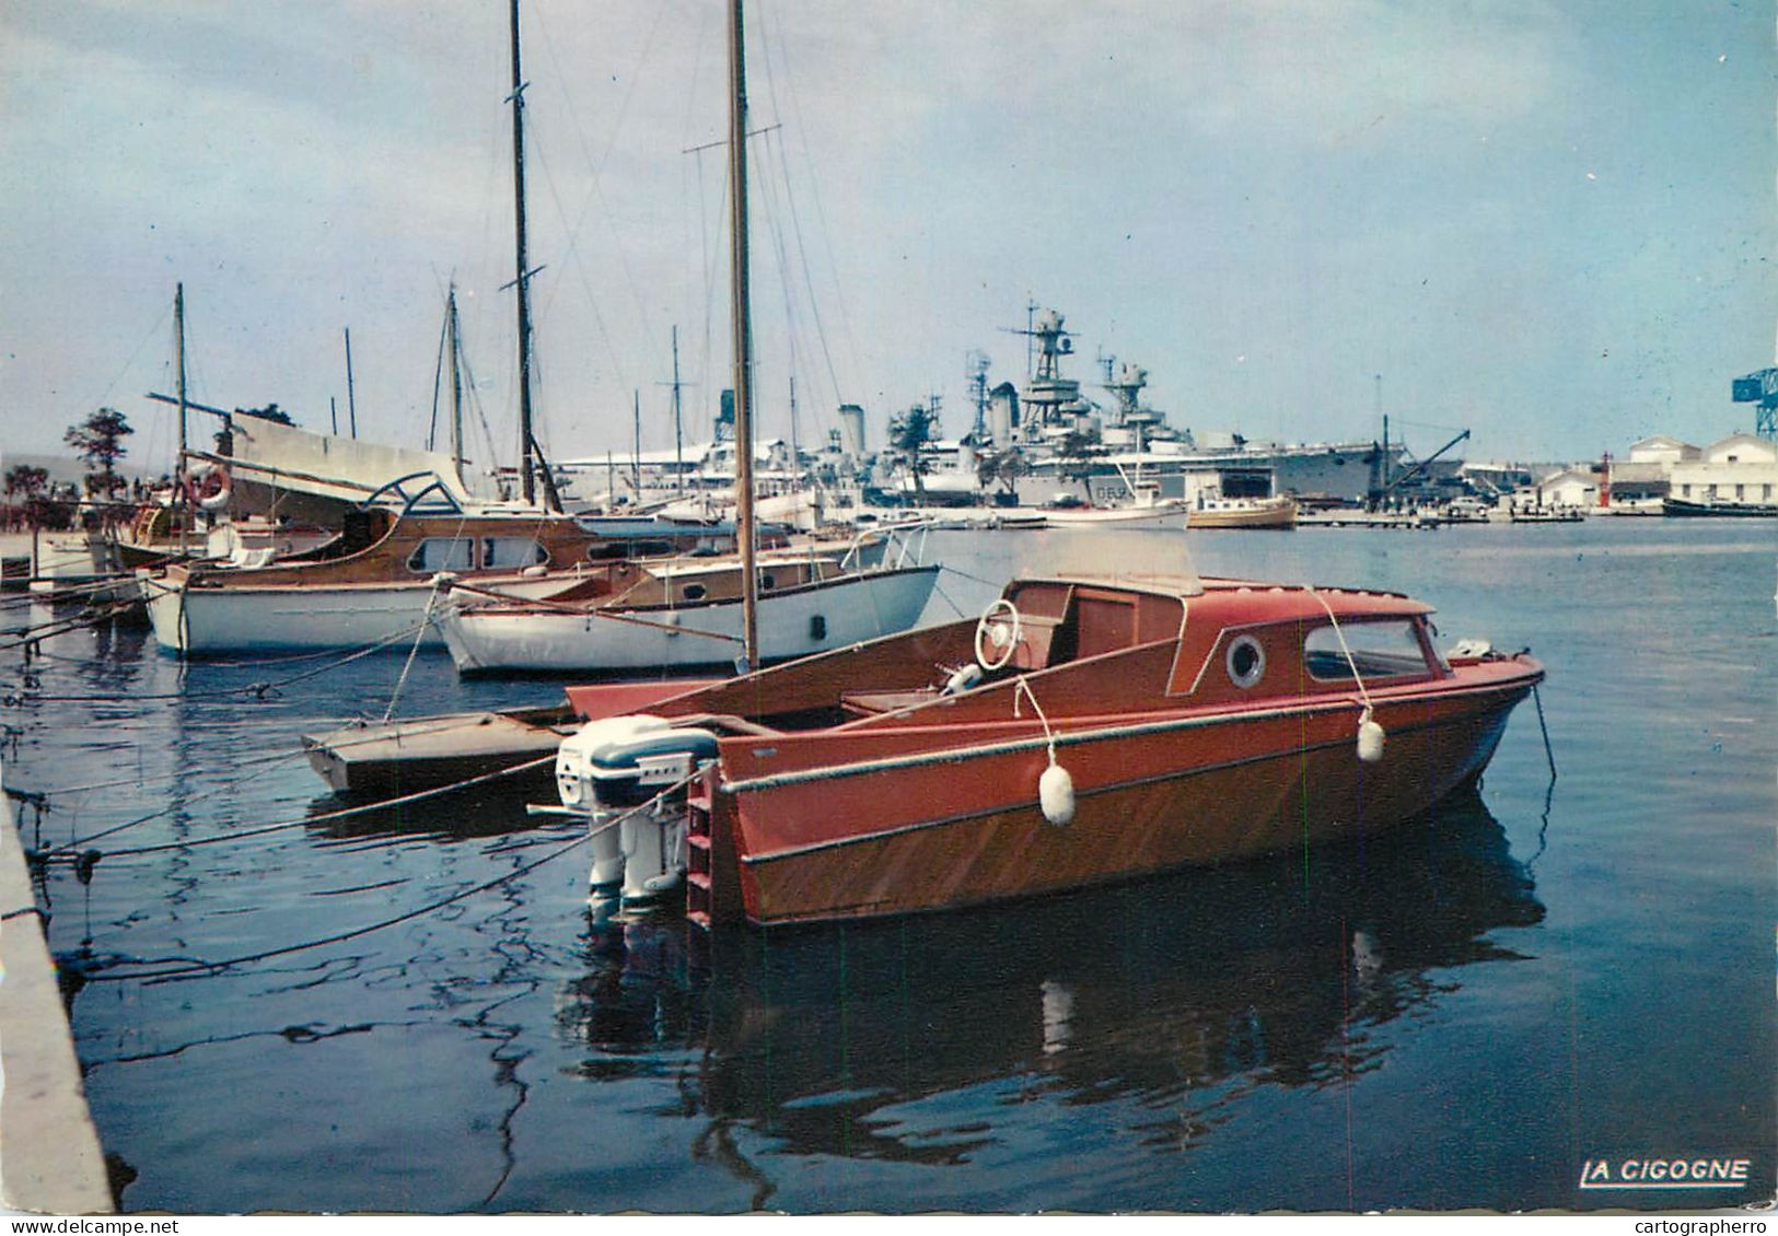
[[[845,574],[763,594],[761,662],[825,653],[919,621],[935,566]],[[464,674],[637,674],[733,667],[741,649],[741,603],[589,608],[461,608],[439,622]]]

